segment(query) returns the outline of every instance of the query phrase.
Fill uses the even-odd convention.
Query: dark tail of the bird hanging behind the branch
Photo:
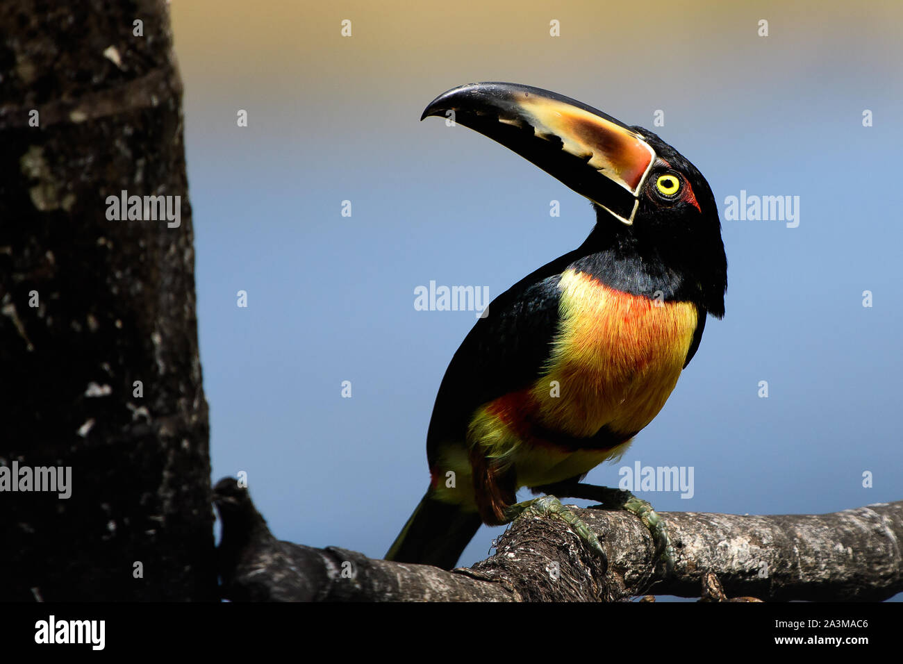
[[[477,512],[433,500],[427,491],[389,548],[386,560],[452,569],[480,523]]]

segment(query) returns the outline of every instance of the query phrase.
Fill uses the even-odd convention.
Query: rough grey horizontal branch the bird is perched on
[[[667,579],[647,529],[623,511],[574,508],[599,536],[607,567],[563,522],[531,517],[499,538],[496,555],[446,572],[280,542],[232,479],[217,484],[215,501],[220,575],[233,600],[612,602],[651,592],[856,601],[903,591],[903,501],[817,516],[664,512],[677,554]]]

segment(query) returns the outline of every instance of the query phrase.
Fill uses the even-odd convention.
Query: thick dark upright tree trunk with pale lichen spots
[[[165,2],[0,0],[0,145],[0,466],[70,466],[72,483],[68,500],[0,492],[0,600],[213,598]],[[123,190],[181,196],[181,225],[107,220]]]

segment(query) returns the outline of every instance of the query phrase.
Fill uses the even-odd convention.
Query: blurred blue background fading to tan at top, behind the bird
[[[426,488],[433,399],[475,322],[416,311],[414,288],[495,297],[591,230],[589,203],[532,164],[418,122],[474,80],[551,89],[656,131],[722,210],[727,315],[628,454],[588,482],[616,485],[637,460],[694,466],[693,499],[639,494],[664,511],[903,499],[900,5],[528,1],[473,14],[204,0],[172,12],[213,478],[246,471],[278,538],[383,556]],[[799,196],[798,228],[725,221],[740,190]],[[461,564],[500,532],[481,529]]]

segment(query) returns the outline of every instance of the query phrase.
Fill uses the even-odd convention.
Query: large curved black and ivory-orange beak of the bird
[[[517,83],[470,83],[443,92],[424,117],[448,117],[520,154],[632,224],[656,161],[643,136],[602,111]]]

